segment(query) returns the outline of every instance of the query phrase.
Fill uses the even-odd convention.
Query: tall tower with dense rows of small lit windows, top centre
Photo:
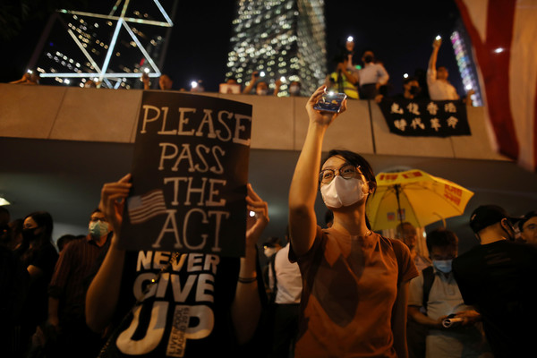
[[[240,0],[233,21],[226,77],[239,83],[258,71],[273,87],[285,77],[279,95],[291,81],[300,81],[302,93],[317,89],[326,76],[323,0]]]

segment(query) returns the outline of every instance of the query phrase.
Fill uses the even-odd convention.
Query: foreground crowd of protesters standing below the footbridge
[[[376,96],[377,86],[368,88]],[[286,242],[265,244],[265,274],[256,245],[268,202],[251,185],[245,200],[255,215],[245,218],[243,258],[125,251],[118,243],[131,175],[104,184],[88,233],[65,237],[59,253],[49,213],[12,220],[0,207],[2,356],[533,352],[537,213],[512,217],[480,206],[469,225],[481,245],[460,256],[456,234],[445,228],[427,234],[428,253],[416,250],[411,223],[400,223],[393,239],[374,232],[365,213],[377,186],[371,165],[343,149],[321,160],[325,133],[346,108],[344,100],[339,113],[315,109],[326,90],[315,90],[306,105]],[[327,227],[314,210],[319,190]]]

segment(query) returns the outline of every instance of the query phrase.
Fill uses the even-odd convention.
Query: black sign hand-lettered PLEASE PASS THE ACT
[[[243,256],[251,105],[144,91],[120,246]]]

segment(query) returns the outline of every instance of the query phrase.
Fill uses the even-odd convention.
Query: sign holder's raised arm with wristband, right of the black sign
[[[255,212],[255,218],[248,218],[246,230],[246,252],[241,258],[239,282],[235,291],[234,302],[231,306],[231,317],[239,344],[246,343],[255,332],[261,314],[260,294],[256,272],[257,248],[256,243],[268,224],[267,202],[248,185],[246,197],[248,211]]]

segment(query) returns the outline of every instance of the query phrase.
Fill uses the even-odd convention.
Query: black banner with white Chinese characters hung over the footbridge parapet
[[[386,98],[379,104],[389,132],[408,137],[471,135],[462,100]]]

